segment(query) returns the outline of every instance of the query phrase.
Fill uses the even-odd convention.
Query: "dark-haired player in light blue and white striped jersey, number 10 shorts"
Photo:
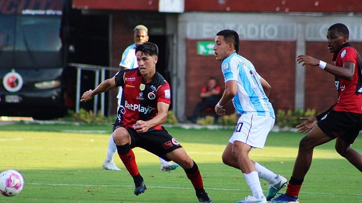
[[[236,31],[225,29],[217,33],[214,51],[216,59],[222,61],[225,91],[215,106],[215,112],[219,116],[224,115],[223,106],[233,102],[237,114],[241,115],[222,153],[222,161],[240,169],[252,190],[252,195],[238,203],[267,203],[286,185],[287,180],[251,160],[249,152],[252,148],[263,148],[273,128],[275,114],[268,100],[271,87],[255,71],[252,62],[237,54],[238,50],[239,35]],[[259,177],[270,184],[267,196],[263,194]]]

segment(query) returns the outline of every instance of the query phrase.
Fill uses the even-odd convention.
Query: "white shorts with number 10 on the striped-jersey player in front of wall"
[[[274,126],[275,118],[270,116],[255,116],[242,114],[237,121],[233,136],[229,143],[235,141],[245,143],[253,148],[263,148],[268,133]]]

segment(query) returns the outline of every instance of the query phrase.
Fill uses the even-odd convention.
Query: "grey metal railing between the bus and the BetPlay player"
[[[82,63],[68,63],[68,66],[71,67],[75,67],[77,69],[77,92],[76,92],[76,112],[79,113],[79,106],[80,106],[80,80],[81,80],[81,74],[82,74],[82,70],[87,70],[87,71],[93,71],[95,76],[94,76],[94,88],[97,87],[99,85],[99,79],[101,82],[103,82],[106,79],[106,70],[107,71],[119,71],[119,68],[115,68],[115,67],[108,67],[108,66],[97,66],[97,65],[90,65],[90,64],[82,64]],[[100,78],[99,78],[99,73],[100,73]],[[105,98],[104,98],[104,92],[100,94],[100,98],[101,98],[101,103],[100,103],[100,108],[101,108],[101,115],[104,116],[104,103],[105,103]],[[96,116],[97,115],[97,111],[98,111],[98,95],[94,96],[94,103],[93,103],[93,113]]]

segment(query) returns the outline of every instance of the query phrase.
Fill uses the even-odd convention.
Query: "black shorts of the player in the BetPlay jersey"
[[[119,127],[123,126],[114,126],[112,131]],[[163,127],[162,130],[151,130],[144,133],[137,133],[131,128],[126,128],[126,130],[131,137],[131,148],[141,147],[166,161],[170,160],[165,157],[165,154],[182,147]]]

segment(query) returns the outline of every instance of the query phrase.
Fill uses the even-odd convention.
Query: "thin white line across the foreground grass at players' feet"
[[[118,185],[83,185],[83,184],[60,184],[60,183],[29,183],[29,185],[39,185],[39,186],[84,186],[84,187],[122,187],[122,188],[134,188],[135,186],[118,186]],[[184,188],[184,187],[164,187],[164,186],[148,186],[147,188],[163,188],[163,189],[193,189],[193,188]],[[205,188],[221,191],[250,191],[250,189],[228,189],[228,188]],[[264,190],[268,192],[267,190]],[[332,192],[300,192],[304,194],[327,194],[327,195],[353,195],[353,196],[362,196],[358,193],[332,193]]]

